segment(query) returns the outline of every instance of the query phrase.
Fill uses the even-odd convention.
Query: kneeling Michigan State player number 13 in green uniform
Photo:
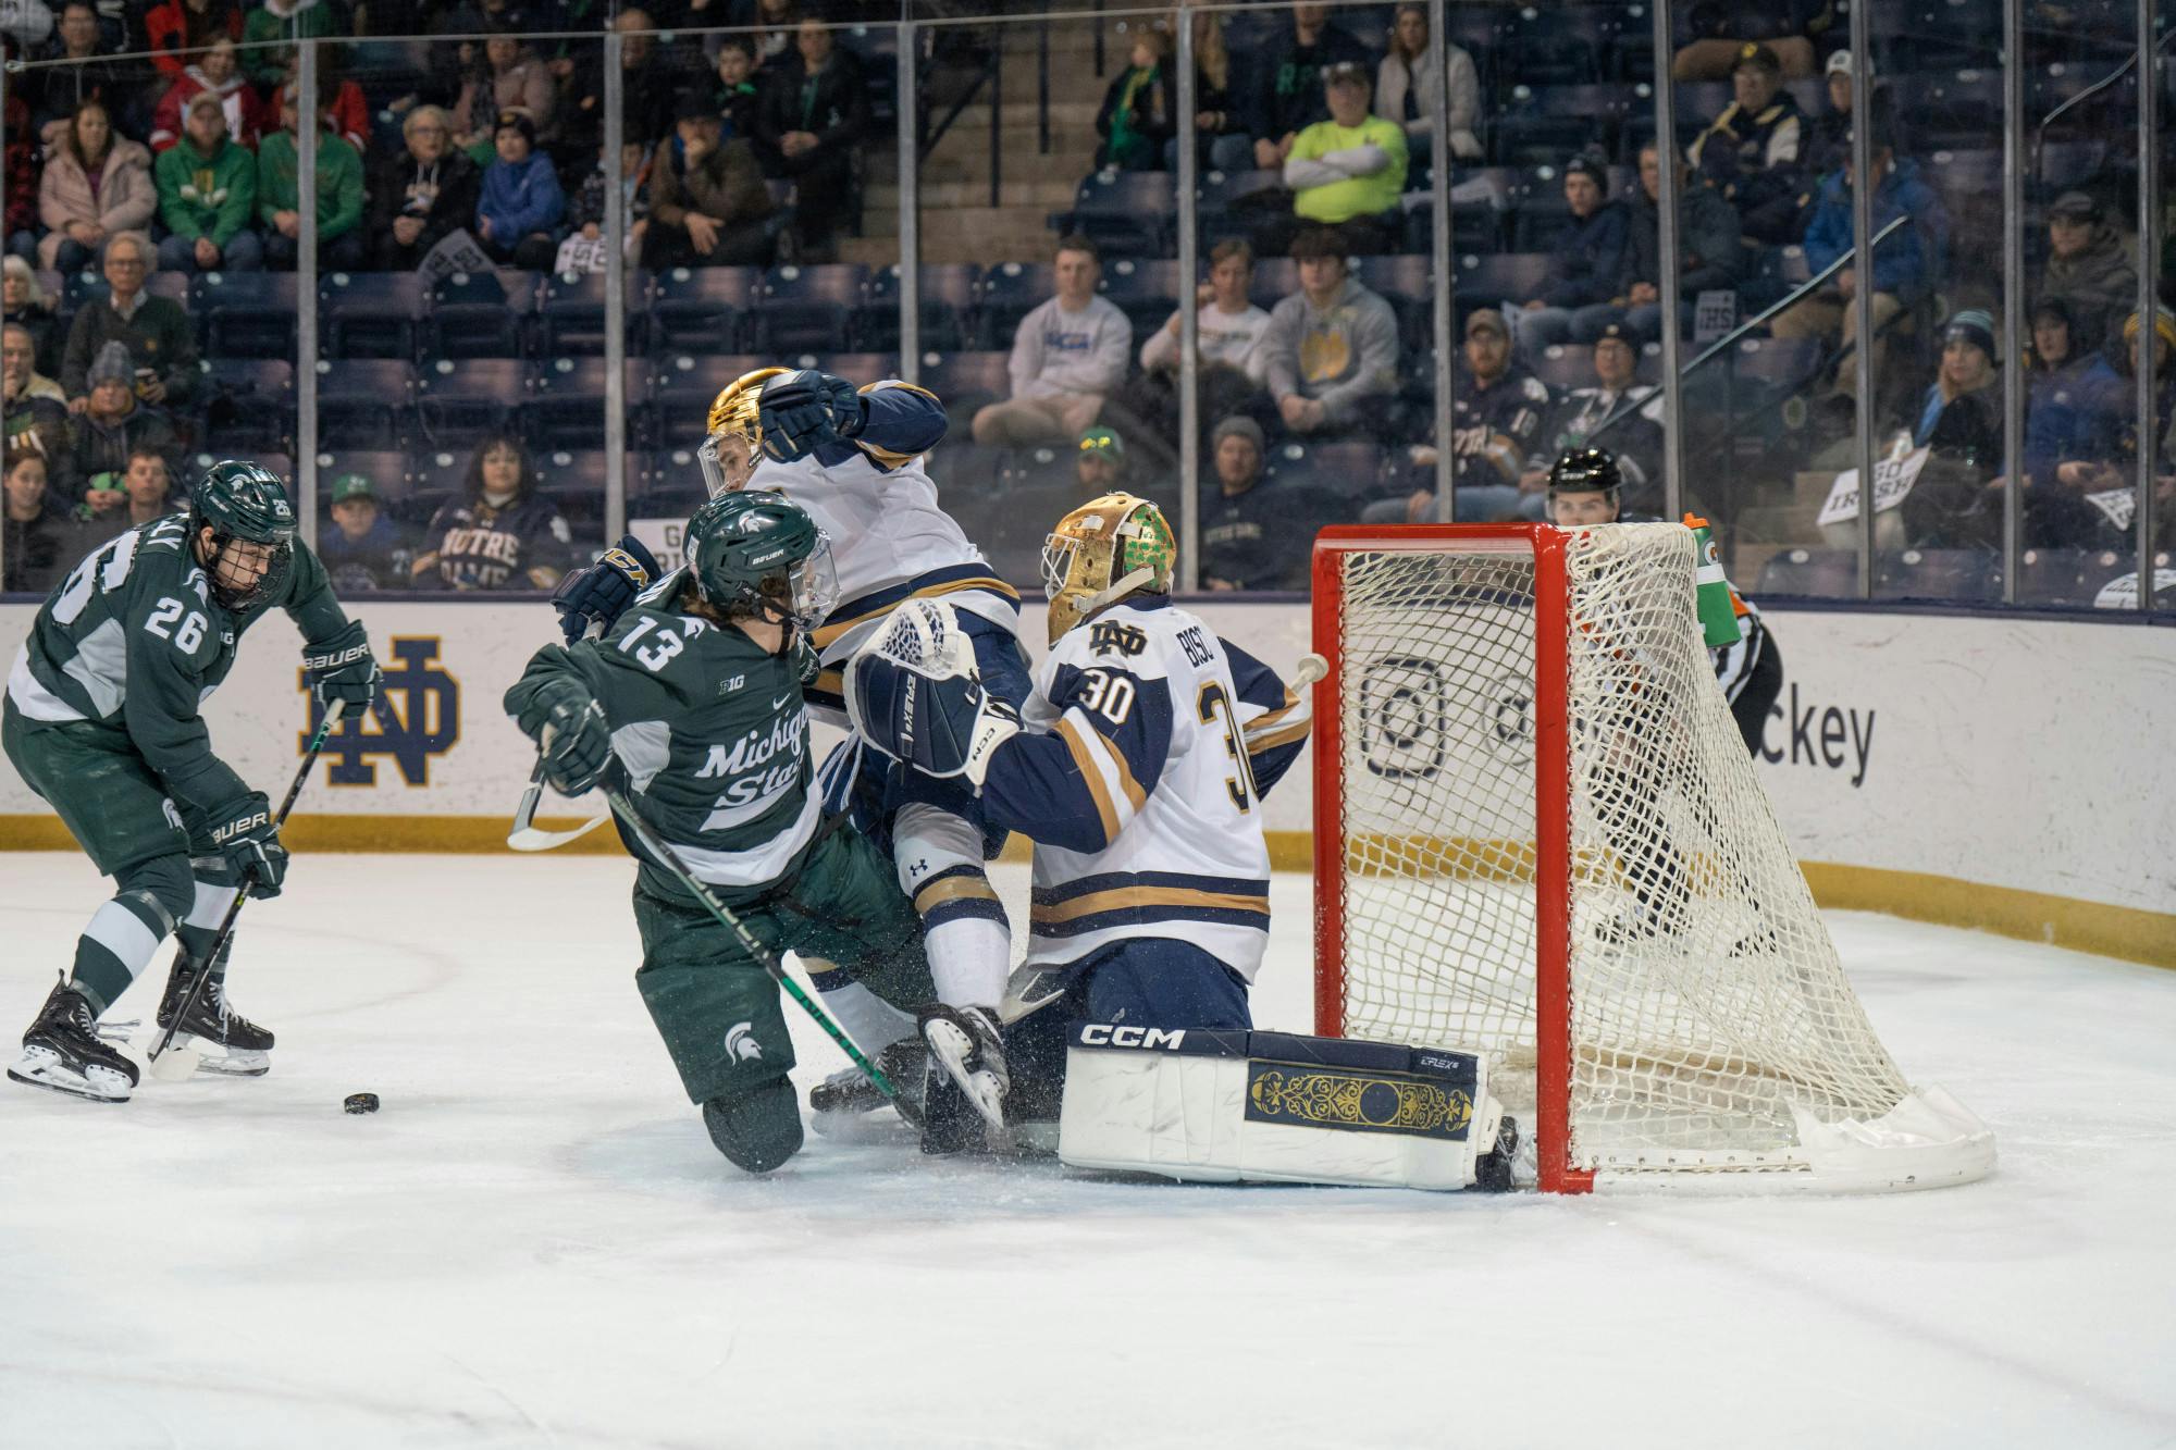
[[[892,864],[812,788],[807,629],[833,603],[829,544],[788,499],[738,492],[688,523],[688,564],[601,640],[548,644],[505,708],[544,779],[607,779],[770,951],[799,951],[864,1052],[914,1032],[936,988]],[[766,1173],[801,1147],[779,988],[622,827],[635,873],[635,986],[727,1158]]]

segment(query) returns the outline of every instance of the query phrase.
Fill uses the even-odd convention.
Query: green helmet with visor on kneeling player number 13
[[[714,610],[814,629],[838,603],[831,540],[792,499],[729,492],[688,520],[688,573]]]

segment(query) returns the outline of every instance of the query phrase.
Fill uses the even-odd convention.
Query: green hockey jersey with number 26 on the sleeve
[[[220,814],[250,788],[211,753],[200,708],[272,607],[313,644],[348,625],[300,540],[270,601],[224,610],[189,549],[187,516],[168,514],[107,540],[46,599],[9,671],[9,701],[30,721],[111,732],[113,749],[139,753],[178,803]]]

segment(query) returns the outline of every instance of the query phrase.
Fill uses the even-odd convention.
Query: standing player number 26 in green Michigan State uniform
[[[287,851],[263,792],[211,753],[198,708],[272,607],[307,640],[302,671],[320,705],[368,705],[379,668],[363,627],[294,538],[285,488],[257,464],[224,462],[196,486],[187,514],[109,540],[37,612],[9,671],[0,742],[120,890],[91,917],[74,969],[24,1034],[15,1082],[126,1099],[137,1069],[98,1039],[96,1019],[176,932],[159,1025],[209,969],[176,1041],[224,1049],[205,1060],[213,1071],[265,1071],[272,1034],[228,1008],[226,956],[207,956],[237,890],[279,895]]]

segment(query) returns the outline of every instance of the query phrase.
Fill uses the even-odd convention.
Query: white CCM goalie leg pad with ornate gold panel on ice
[[[1190,1182],[1508,1189],[1488,1058],[1290,1032],[1075,1023],[1058,1156]]]

